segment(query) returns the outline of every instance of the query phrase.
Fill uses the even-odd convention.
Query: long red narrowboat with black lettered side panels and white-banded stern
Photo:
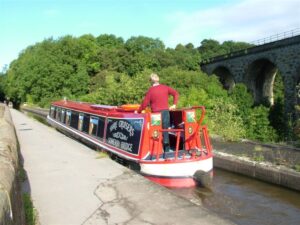
[[[209,183],[213,156],[207,127],[202,124],[205,108],[170,111],[169,129],[162,129],[160,113],[135,113],[138,108],[61,100],[51,104],[47,121],[114,158],[136,165],[143,176],[163,186],[206,185],[203,180]],[[170,152],[163,150],[163,132],[168,132]]]

